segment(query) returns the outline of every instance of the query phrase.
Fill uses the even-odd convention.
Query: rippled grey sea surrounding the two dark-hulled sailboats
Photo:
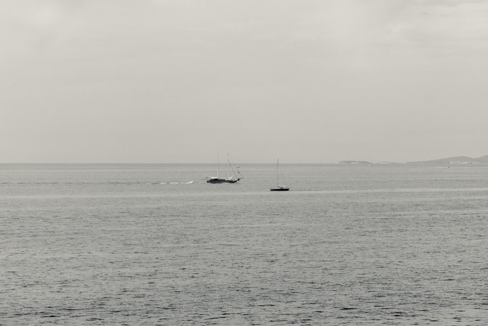
[[[0,164],[0,325],[488,324],[488,166],[274,169]]]

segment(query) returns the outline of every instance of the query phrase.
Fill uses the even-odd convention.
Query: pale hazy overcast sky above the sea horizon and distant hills
[[[488,154],[485,0],[2,0],[0,162]]]

